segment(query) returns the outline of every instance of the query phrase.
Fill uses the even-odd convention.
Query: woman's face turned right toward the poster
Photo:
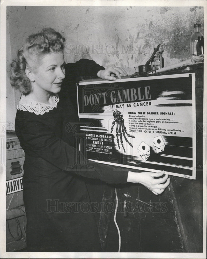
[[[60,92],[61,84],[65,78],[64,65],[63,53],[45,54],[40,66],[33,72],[35,90],[40,90],[42,93]]]

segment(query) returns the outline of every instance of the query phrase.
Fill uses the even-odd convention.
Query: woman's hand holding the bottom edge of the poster
[[[161,178],[165,174],[165,171],[160,172],[131,172],[128,173],[127,182],[130,183],[141,183],[146,188],[148,188],[151,192],[155,195],[161,194],[164,192],[165,188],[170,183],[170,178],[166,174],[164,177]],[[159,178],[155,178],[159,177]]]

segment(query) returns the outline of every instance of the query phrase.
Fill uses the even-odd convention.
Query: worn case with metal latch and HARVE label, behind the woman
[[[24,150],[15,133],[6,139],[6,251],[26,247],[26,215],[23,202],[22,176]]]

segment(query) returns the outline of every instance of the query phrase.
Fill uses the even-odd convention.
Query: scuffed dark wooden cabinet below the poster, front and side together
[[[117,189],[121,252],[202,252],[202,174],[196,181],[170,177],[170,186],[159,196],[142,185]],[[115,208],[114,189],[109,193],[104,199],[113,201]],[[128,217],[123,217],[124,200],[130,204]],[[114,212],[100,215],[100,229],[103,251],[117,252],[119,237]]]

